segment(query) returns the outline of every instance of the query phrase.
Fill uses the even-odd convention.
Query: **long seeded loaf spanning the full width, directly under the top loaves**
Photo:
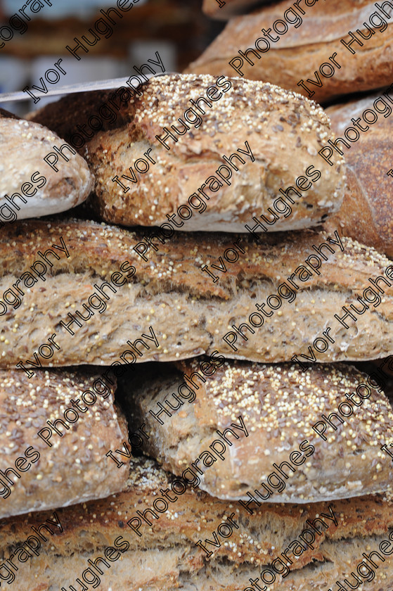
[[[348,329],[335,319],[335,314],[344,317],[343,305],[351,311],[353,303],[361,312],[357,298],[365,289],[368,302],[373,300],[369,278],[385,276],[389,282],[385,270],[392,272],[392,262],[352,239],[341,239],[342,252],[338,241],[329,243],[326,234],[314,231],[266,234],[257,243],[252,236],[243,234],[237,238],[244,253],[239,251],[237,262],[229,263],[224,253],[233,248],[236,236],[175,233],[164,243],[153,239],[157,245],[154,250],[141,242],[141,232],[80,220],[30,220],[12,224],[0,234],[0,296],[8,288],[15,291],[15,280],[22,272],[30,271],[34,260],[39,259],[37,252],[45,253],[53,242],[58,244],[59,236],[63,236],[69,258],[59,255],[53,267],[46,270],[44,283],[37,279],[28,291],[23,282],[18,284],[25,291],[18,307],[8,305],[4,314],[0,306],[0,367],[34,362],[34,351],[47,343],[52,333],[58,335],[61,348],[53,351],[49,361],[39,357],[42,364],[120,363],[127,341],[134,342],[142,333],[149,335],[149,326],[153,327],[158,345],[150,337],[146,341],[149,348],[140,346],[143,357],[136,355],[137,361],[180,360],[214,350],[235,359],[289,361],[295,354],[311,356],[308,347],[316,337],[323,338],[327,326],[335,342],[327,341],[325,352],[315,350],[317,362],[368,360],[393,353],[392,281],[390,287],[383,284],[385,294],[378,307],[369,303],[363,314],[352,310],[356,320],[347,317]],[[290,290],[288,277],[295,269],[300,273],[299,266],[304,266],[311,255],[319,257],[313,246],[318,248],[322,243],[327,245],[321,252],[328,260],[321,256],[321,269],[316,269],[319,274],[311,272],[311,267],[306,269],[307,281],[300,281],[296,274],[298,289],[292,288],[290,293],[282,286],[280,305],[278,287],[287,284]],[[52,255],[48,257],[53,260]],[[205,263],[218,267],[220,257],[226,272],[212,269],[219,277],[214,283],[201,267]],[[126,282],[120,274],[117,283],[123,281],[124,285],[115,287],[112,274],[120,272],[124,265],[127,268],[127,261],[130,272],[124,272]],[[318,259],[309,262],[318,266]],[[89,307],[89,298],[94,293],[100,295],[94,286],[100,288],[104,281],[109,281],[116,293],[105,287],[108,296],[101,295],[101,299],[107,308],[100,314],[98,308],[103,305],[94,299]],[[276,312],[268,308],[266,314],[270,317],[264,324],[258,316],[252,316],[252,327],[250,314],[257,314],[256,305],[266,306],[270,295],[275,295],[269,301]],[[10,295],[7,299],[13,301]],[[94,312],[88,321],[89,312],[82,304]],[[77,311],[86,321],[75,315]],[[67,314],[73,314],[81,326]],[[72,322],[70,329],[75,334],[72,336],[60,322]],[[223,337],[228,331],[236,334],[232,326],[242,323],[247,323],[252,332],[243,329],[247,341],[238,334],[236,343],[230,346],[228,340],[233,341],[233,336],[226,341]],[[317,345],[323,349],[322,341]],[[300,359],[305,362],[303,357]],[[31,369],[29,364],[26,367]]]

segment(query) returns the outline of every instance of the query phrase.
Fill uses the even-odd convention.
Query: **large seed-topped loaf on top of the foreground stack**
[[[271,84],[205,75],[158,77],[139,93],[128,103],[117,96],[116,129],[90,130],[90,141],[79,133],[103,220],[158,226],[180,215],[187,220],[179,217],[182,231],[244,232],[252,216],[269,215],[273,201],[282,199],[280,189],[290,186],[297,191],[288,200],[293,211],[288,215],[285,202],[277,205],[285,215],[275,230],[315,226],[340,208],[344,160],[330,167],[318,156],[332,132],[323,110],[304,97]],[[65,98],[35,120],[76,141],[77,123],[89,110],[97,113],[103,98],[88,93],[76,106]],[[167,136],[166,145],[157,136]]]

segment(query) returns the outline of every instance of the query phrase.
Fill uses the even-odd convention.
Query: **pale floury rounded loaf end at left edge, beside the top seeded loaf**
[[[1,222],[66,211],[82,203],[93,187],[84,159],[37,123],[0,117],[0,156]]]

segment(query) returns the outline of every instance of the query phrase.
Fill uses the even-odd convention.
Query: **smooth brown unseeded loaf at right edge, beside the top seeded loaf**
[[[379,114],[375,111],[375,101]],[[378,117],[373,125],[367,125],[362,118],[366,109],[371,109]],[[347,186],[342,208],[326,220],[325,228],[326,231],[340,228],[344,236],[351,236],[393,257],[393,178],[387,174],[393,167],[390,153],[393,115],[389,115],[389,109],[392,113],[392,105],[378,93],[326,110],[336,136],[344,139],[349,148],[342,142],[337,144],[347,162]],[[381,114],[384,110],[385,116]],[[354,128],[352,119],[358,118],[361,127],[369,129],[360,132],[358,141],[347,141],[344,132],[347,127]],[[372,114],[366,118],[370,121]],[[356,137],[353,132],[349,132],[349,136]]]

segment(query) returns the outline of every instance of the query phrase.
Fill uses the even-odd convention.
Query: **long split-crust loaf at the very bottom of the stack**
[[[188,488],[177,496],[175,502],[168,502],[167,511],[156,511],[158,519],[151,513],[146,514],[152,525],[143,523],[139,529],[141,537],[138,537],[127,526],[127,521],[136,515],[136,510],[143,512],[153,508],[160,489],[168,490],[173,481],[173,476],[158,469],[155,462],[136,459],[131,466],[127,492],[58,509],[58,520],[64,531],[56,531],[49,542],[41,542],[39,557],[34,556],[15,573],[13,585],[31,591],[51,591],[61,587],[68,590],[70,585],[78,589],[82,585],[75,580],[84,580],[82,573],[91,566],[88,559],[93,562],[102,557],[106,564],[96,562],[103,573],[101,575],[98,571],[98,581],[91,575],[96,573],[96,567],[86,573],[86,580],[90,583],[101,580],[98,588],[102,591],[173,591],[177,588],[210,591],[213,584],[214,589],[243,591],[249,578],[259,578],[261,571],[269,568],[287,549],[288,561],[282,561],[289,565],[290,573],[283,579],[277,575],[276,584],[271,588],[275,591],[326,591],[337,579],[348,576],[352,580],[350,573],[356,571],[356,564],[363,558],[362,552],[379,551],[380,542],[388,538],[389,528],[393,527],[392,503],[378,495],[330,503],[266,503],[259,508],[253,507],[250,515],[239,504],[220,501],[205,492]],[[171,499],[176,496],[171,488],[169,496]],[[157,505],[162,509],[160,503]],[[333,519],[329,521],[322,516],[330,516],[328,505],[337,526]],[[217,535],[217,528],[220,523],[228,523],[230,516],[238,529],[233,526],[232,535],[221,538]],[[288,544],[299,540],[302,530],[309,528],[307,521],[316,518],[322,518],[328,528],[317,521],[316,527],[321,535],[315,534],[316,540],[311,544],[314,548],[303,542],[303,552],[294,559]],[[15,545],[26,540],[32,533],[32,526],[37,528],[37,524],[44,523],[45,519],[53,519],[53,516],[35,513],[2,521],[1,561],[8,558]],[[135,521],[133,524],[137,525]],[[227,528],[221,528],[221,531],[228,533]],[[219,547],[219,542],[216,547],[205,542],[206,539],[214,542],[213,532],[220,542]],[[304,537],[311,540],[307,533]],[[105,549],[115,547],[115,540],[116,547],[121,550],[114,556],[112,553],[115,561],[109,561]],[[210,558],[196,546],[198,540],[212,552]],[[110,555],[110,550],[108,553]],[[384,562],[378,559],[377,564],[375,579],[372,583],[365,582],[362,590],[392,589],[392,561],[387,556]],[[278,571],[283,570],[281,564],[276,562],[276,566]],[[271,566],[269,570],[273,572]],[[6,578],[4,570],[2,573]]]

